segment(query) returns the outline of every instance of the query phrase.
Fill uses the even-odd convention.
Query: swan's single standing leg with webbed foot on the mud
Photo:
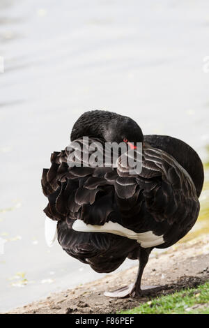
[[[114,290],[114,292],[104,292],[104,296],[107,297],[139,297],[142,295],[149,294],[152,290],[160,289],[159,286],[146,286],[141,289],[141,277],[144,272],[144,268],[148,262],[148,258],[150,252],[153,250],[152,248],[140,248],[139,249],[139,269],[137,272],[137,279],[134,283],[125,286],[123,288],[119,288],[118,290]]]

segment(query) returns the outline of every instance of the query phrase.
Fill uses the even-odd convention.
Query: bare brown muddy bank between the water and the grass
[[[173,246],[160,255],[150,258],[143,276],[143,285],[161,285],[159,291],[137,299],[111,299],[104,297],[106,290],[115,290],[118,286],[134,281],[137,266],[108,274],[104,278],[86,283],[72,290],[52,294],[47,299],[36,301],[16,308],[9,313],[116,313],[122,309],[139,306],[142,302],[166,295],[182,288],[196,287],[209,281],[209,235],[201,236],[187,244]]]

